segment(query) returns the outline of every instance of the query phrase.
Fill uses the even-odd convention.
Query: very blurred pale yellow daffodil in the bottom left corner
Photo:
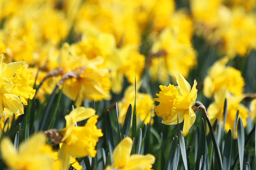
[[[31,136],[28,141],[19,145],[18,151],[14,149],[10,139],[2,139],[0,149],[2,158],[10,169],[52,170],[54,160],[51,158],[50,146],[46,145],[44,133]]]

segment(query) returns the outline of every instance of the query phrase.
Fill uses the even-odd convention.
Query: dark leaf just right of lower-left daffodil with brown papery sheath
[[[105,116],[106,116],[105,118],[106,132],[107,132],[107,139],[108,139],[108,145],[109,145],[110,160],[112,164],[113,163],[112,154],[115,147],[114,147],[114,139],[113,139],[112,126],[111,126],[110,117],[109,117],[109,111],[106,112]]]

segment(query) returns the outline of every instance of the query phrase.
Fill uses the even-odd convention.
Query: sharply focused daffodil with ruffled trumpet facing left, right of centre
[[[176,125],[184,120],[184,126],[182,136],[188,134],[188,130],[193,125],[196,119],[196,114],[192,110],[193,103],[197,98],[197,82],[194,80],[193,87],[191,89],[190,84],[185,78],[177,72],[174,72],[177,79],[178,86],[169,84],[166,86],[159,86],[161,91],[156,94],[158,98],[154,99],[160,102],[158,106],[155,106],[155,112],[158,117],[162,117],[162,123],[165,125]]]

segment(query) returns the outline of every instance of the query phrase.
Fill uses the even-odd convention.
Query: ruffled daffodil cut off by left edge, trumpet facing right
[[[3,60],[3,54],[0,61]],[[3,112],[12,116],[24,113],[23,104],[27,105],[25,99],[33,99],[35,91],[29,87],[34,81],[29,80],[29,72],[24,71],[25,62],[13,62],[0,65],[0,115]],[[16,74],[15,77],[13,77]],[[18,97],[19,96],[19,97]],[[23,104],[22,104],[23,102]]]

